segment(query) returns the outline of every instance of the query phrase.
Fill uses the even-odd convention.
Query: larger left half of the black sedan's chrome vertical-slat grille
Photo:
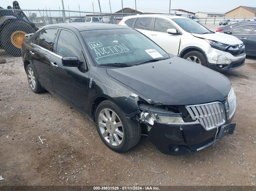
[[[226,122],[224,107],[220,102],[185,106],[193,120],[197,120],[206,129],[213,129]]]

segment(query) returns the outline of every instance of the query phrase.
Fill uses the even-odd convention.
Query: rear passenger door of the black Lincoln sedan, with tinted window
[[[43,30],[35,38],[34,43],[31,43],[29,52],[29,59],[35,69],[39,82],[51,93],[54,93],[54,91],[50,72],[50,59],[57,31],[56,28]]]

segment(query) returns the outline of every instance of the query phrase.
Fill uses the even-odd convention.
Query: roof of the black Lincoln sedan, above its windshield
[[[130,27],[117,25],[117,24],[106,24],[106,23],[59,23],[46,25],[45,27],[61,27],[68,29],[76,29],[78,31],[87,30],[103,30],[103,29],[131,29]]]

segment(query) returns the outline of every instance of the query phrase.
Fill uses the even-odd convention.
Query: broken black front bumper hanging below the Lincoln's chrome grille
[[[229,123],[218,127],[216,135],[217,127],[207,131],[197,122],[182,124],[155,122],[148,132],[148,139],[164,154],[185,155],[206,148],[223,136],[233,134],[235,126],[235,123]]]

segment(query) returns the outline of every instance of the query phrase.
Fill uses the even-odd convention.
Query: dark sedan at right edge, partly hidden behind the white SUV
[[[218,30],[218,29],[217,29]],[[216,30],[216,31],[217,31]],[[256,22],[240,22],[234,24],[232,28],[224,28],[221,33],[230,34],[243,41],[245,53],[248,56],[256,56]]]

